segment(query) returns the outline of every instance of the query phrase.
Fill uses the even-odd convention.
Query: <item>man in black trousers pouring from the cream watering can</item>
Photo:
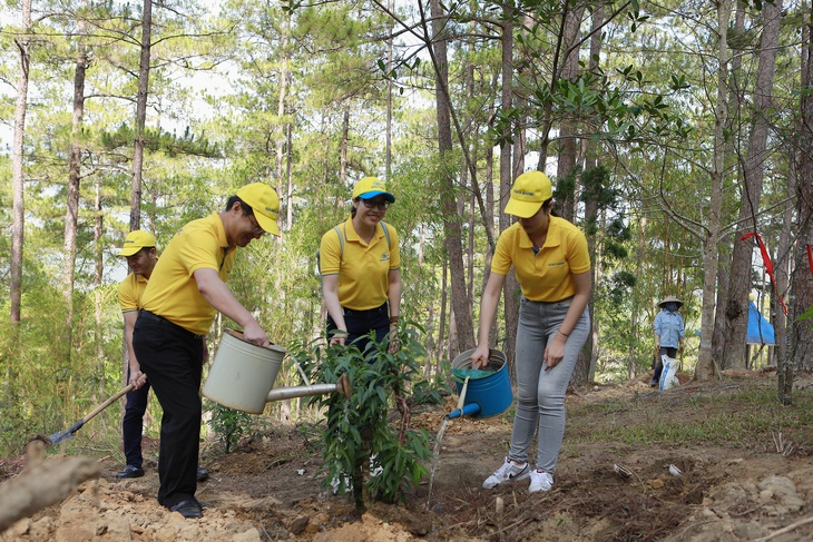
[[[221,312],[243,327],[246,341],[270,344],[226,279],[237,247],[280,235],[278,211],[273,188],[262,183],[242,187],[225,210],[190,221],[173,237],[144,293],[133,346],[164,408],[158,502],[184,518],[203,516],[195,491],[205,336]]]

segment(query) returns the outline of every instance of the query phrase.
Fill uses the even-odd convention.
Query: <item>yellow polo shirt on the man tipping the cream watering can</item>
[[[144,307],[185,329],[205,335],[217,311],[200,295],[193,274],[215,269],[226,282],[236,248],[228,248],[217,213],[184,226],[161,253],[144,292]]]

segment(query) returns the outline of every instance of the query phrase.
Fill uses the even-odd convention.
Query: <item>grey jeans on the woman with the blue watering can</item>
[[[546,371],[545,347],[565,321],[571,299],[539,303],[526,299],[519,306],[517,328],[517,413],[511,451],[518,463],[528,461],[533,434],[539,431],[537,469],[552,473],[565,435],[565,393],[581,347],[590,335],[590,315],[585,312],[565,344],[565,357]]]

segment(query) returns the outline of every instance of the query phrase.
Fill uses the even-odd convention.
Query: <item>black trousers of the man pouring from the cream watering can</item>
[[[158,502],[195,497],[200,446],[203,336],[141,311],[133,334],[141,371],[164,410],[158,455]]]

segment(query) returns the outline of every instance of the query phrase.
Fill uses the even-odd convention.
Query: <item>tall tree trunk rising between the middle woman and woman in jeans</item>
[[[471,305],[466,295],[466,272],[461,245],[460,215],[454,196],[454,175],[445,167],[445,158],[452,150],[451,112],[449,104],[449,66],[447,60],[445,29],[448,17],[440,0],[431,0],[432,14],[432,62],[435,67],[435,100],[438,104],[438,147],[441,157],[440,199],[443,213],[444,245],[449,254],[449,268],[452,278],[452,312],[454,314],[458,344],[474,345],[474,327]],[[470,346],[467,346],[470,347]]]

